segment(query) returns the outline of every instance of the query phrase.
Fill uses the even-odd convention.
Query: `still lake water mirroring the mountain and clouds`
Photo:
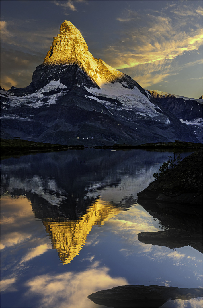
[[[87,296],[127,284],[201,287],[201,252],[137,239],[190,219],[161,219],[137,203],[170,154],[85,149],[2,160],[1,307],[105,307]]]

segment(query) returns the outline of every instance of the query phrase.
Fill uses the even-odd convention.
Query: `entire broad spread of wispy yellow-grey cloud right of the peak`
[[[124,43],[115,42],[106,48],[104,61],[130,75],[142,87],[176,75],[179,59],[183,56],[181,59],[186,62],[186,57],[199,54],[202,46],[201,7],[184,3],[167,3],[162,11],[153,14],[149,14],[150,10],[124,11],[116,18],[125,22],[119,33],[119,41]],[[180,15],[171,14],[171,10]]]

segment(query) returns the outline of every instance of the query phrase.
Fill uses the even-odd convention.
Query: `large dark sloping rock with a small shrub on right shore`
[[[153,199],[202,205],[202,150],[185,157],[179,165],[137,194],[139,199]]]

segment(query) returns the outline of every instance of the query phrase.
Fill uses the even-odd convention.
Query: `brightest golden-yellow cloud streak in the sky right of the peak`
[[[109,53],[109,58],[114,54],[113,67],[116,69],[124,69],[135,67],[141,64],[154,63],[156,69],[164,62],[170,62],[177,56],[183,55],[188,51],[198,50],[202,44],[202,31],[198,29],[192,35],[186,33],[171,33],[162,37],[160,42],[157,42],[156,35],[163,31],[162,22],[160,26],[148,29],[148,35],[140,38],[137,33],[131,33],[130,43],[123,44],[124,47],[118,46],[109,47],[106,52]],[[140,44],[133,42],[140,41]],[[127,40],[125,40],[126,42]],[[126,48],[125,45],[131,45]],[[134,45],[134,46],[133,46]],[[128,46],[127,46],[128,47]]]

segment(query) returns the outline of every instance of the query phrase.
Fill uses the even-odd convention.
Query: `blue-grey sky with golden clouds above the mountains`
[[[141,87],[202,95],[202,1],[1,1],[1,86],[26,87],[64,20]]]

